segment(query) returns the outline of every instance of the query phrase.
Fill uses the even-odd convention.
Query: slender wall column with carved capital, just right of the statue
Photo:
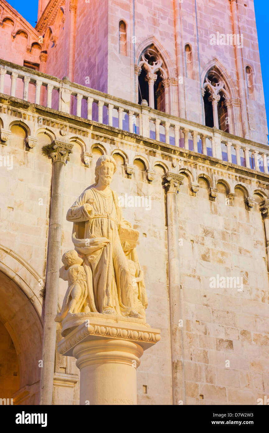
[[[182,357],[182,327],[179,327],[181,315],[180,288],[180,253],[179,231],[176,196],[179,186],[183,184],[183,177],[174,173],[163,175],[163,185],[167,195],[167,242],[168,242],[168,278],[170,302],[170,332],[171,332],[171,361],[173,404],[179,400],[184,402],[184,374]]]

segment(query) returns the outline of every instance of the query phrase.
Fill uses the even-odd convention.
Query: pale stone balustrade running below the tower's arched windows
[[[268,145],[71,83],[67,78],[59,80],[0,60],[0,93],[268,174]]]

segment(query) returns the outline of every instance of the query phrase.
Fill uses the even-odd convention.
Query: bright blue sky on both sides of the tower
[[[250,0],[251,1],[251,0]],[[13,6],[27,21],[35,26],[37,20],[38,0],[10,0]],[[268,68],[268,29],[269,1],[254,0],[256,26],[258,32],[259,55],[263,74],[263,89],[266,101],[267,123],[269,124],[269,68]]]

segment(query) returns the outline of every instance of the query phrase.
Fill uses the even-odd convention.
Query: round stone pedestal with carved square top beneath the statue
[[[58,352],[77,359],[80,404],[137,404],[136,369],[144,350],[160,340],[160,330],[139,319],[98,315],[68,314],[62,322]]]

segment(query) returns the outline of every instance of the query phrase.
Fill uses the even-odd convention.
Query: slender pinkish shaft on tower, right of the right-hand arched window
[[[237,0],[230,0],[230,2],[231,2],[231,12],[232,12],[232,22],[233,22],[233,33],[234,35],[239,35],[240,33],[239,33],[239,23],[238,23],[238,15],[237,15]],[[243,136],[244,138],[249,138],[247,101],[246,101],[246,90],[245,90],[245,81],[244,81],[244,74],[243,74],[243,59],[242,59],[241,48],[235,47],[234,52],[235,52],[236,68],[238,74],[238,87],[239,87],[239,96],[241,102]]]

